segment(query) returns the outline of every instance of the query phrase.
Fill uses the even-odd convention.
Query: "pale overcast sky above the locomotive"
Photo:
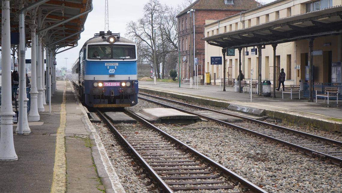
[[[122,37],[126,34],[126,24],[130,21],[136,22],[143,17],[142,8],[149,0],[108,0],[109,12],[109,30],[112,33],[120,33]],[[169,7],[176,7],[185,0],[159,0],[161,4]],[[193,0],[194,2],[195,0]],[[262,0],[262,2],[272,2],[274,0]],[[78,53],[84,42],[92,38],[95,33],[104,31],[105,28],[105,0],[93,0],[93,11],[88,14],[85,30],[81,33],[81,39],[78,40],[78,46],[62,53],[57,54],[57,68],[67,67],[71,69],[73,63],[78,58]],[[58,51],[63,50],[61,48]],[[30,58],[30,52],[26,52],[26,58]],[[68,59],[65,59],[68,58]]]

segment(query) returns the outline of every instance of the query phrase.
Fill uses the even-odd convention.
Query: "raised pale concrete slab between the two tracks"
[[[197,115],[169,108],[142,109],[139,113],[149,117],[149,120],[158,123],[191,124],[200,121],[200,118]]]

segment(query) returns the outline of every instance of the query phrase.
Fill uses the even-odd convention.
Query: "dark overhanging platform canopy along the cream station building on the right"
[[[208,24],[210,25],[210,24]],[[342,34],[342,5],[301,13],[203,38],[222,48],[243,48]]]

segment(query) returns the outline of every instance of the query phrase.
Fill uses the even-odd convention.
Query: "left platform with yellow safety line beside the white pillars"
[[[57,81],[50,107],[15,133],[16,161],[0,161],[0,192],[124,192],[69,81]]]

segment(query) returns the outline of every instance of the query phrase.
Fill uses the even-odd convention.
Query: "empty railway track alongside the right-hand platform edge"
[[[183,102],[152,96],[144,93],[139,93],[139,98],[154,102],[168,108],[174,108],[190,114],[196,114],[197,116],[219,122],[220,124],[227,125],[231,128],[243,132],[252,133],[255,136],[263,137],[268,141],[288,146],[307,155],[320,156],[326,160],[331,161],[334,164],[342,165],[342,142],[340,141],[331,140],[329,138],[285,128],[279,125],[255,120],[233,113],[227,113],[219,110],[190,105]],[[215,119],[213,117],[208,117],[203,114],[196,113],[195,111],[198,110],[212,111],[220,114],[225,114],[227,116],[238,117],[240,119],[244,119],[245,122],[228,123]]]

